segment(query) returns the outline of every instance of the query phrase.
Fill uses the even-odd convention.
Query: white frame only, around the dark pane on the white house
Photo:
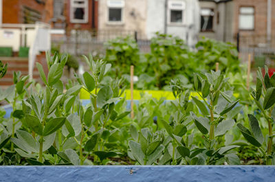
[[[173,4],[180,4],[179,7],[173,5]],[[185,1],[179,1],[179,0],[173,0],[173,1],[168,1],[168,8],[167,8],[167,23],[172,24],[172,25],[184,25],[186,17],[185,12],[186,12],[186,2]],[[181,22],[171,22],[171,11],[172,10],[181,10]]]

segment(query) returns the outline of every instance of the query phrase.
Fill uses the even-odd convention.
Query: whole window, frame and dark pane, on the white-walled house
[[[184,23],[184,1],[169,1],[168,23]]]

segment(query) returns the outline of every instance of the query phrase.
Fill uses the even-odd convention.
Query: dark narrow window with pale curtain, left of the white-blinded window
[[[214,11],[210,8],[201,9],[201,32],[213,31]]]

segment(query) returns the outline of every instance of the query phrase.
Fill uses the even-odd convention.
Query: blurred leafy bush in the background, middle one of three
[[[181,38],[166,34],[156,34],[151,39],[151,52],[146,54],[146,72],[155,77],[159,89],[168,85],[178,75],[190,78],[194,71],[192,52]],[[183,71],[184,70],[184,71]]]

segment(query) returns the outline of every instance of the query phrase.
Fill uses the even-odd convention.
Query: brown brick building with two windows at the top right
[[[240,48],[275,48],[275,0],[199,0],[200,36],[236,43]]]

